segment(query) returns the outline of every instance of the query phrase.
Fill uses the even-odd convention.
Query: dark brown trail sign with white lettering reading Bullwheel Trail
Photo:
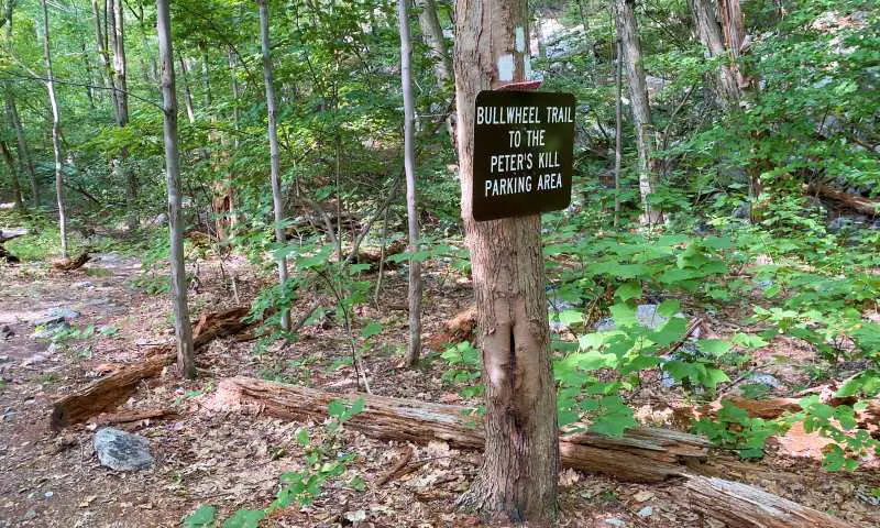
[[[474,111],[474,219],[569,207],[574,96],[485,90]]]

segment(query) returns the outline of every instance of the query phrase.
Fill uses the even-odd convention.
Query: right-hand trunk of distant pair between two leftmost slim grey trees
[[[112,0],[112,7],[113,13],[110,24],[112,36],[110,42],[113,46],[113,88],[117,94],[117,125],[120,129],[124,129],[129,124],[129,86],[125,76],[125,13],[122,8],[122,0]],[[128,224],[131,231],[138,227],[138,208],[134,204],[138,196],[138,186],[134,178],[134,170],[131,169],[128,161],[129,148],[123,146],[120,151],[119,160],[113,164],[113,167],[122,173],[121,179],[125,180]]]

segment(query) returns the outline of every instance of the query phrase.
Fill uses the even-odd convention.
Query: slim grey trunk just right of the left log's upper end
[[[272,165],[272,202],[275,208],[275,241],[284,244],[287,237],[284,234],[284,201],[282,200],[280,184],[280,155],[278,152],[278,129],[275,122],[275,86],[272,75],[272,51],[268,42],[268,9],[265,0],[257,0],[260,7],[260,42],[263,48],[263,77],[266,84],[266,112],[268,113],[268,150]],[[278,284],[284,290],[287,284],[287,258],[278,258]],[[282,328],[290,329],[290,307],[283,306]]]

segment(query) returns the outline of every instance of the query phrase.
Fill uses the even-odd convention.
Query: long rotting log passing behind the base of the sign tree
[[[458,449],[482,449],[482,420],[473,409],[365,394],[336,394],[250,377],[223,380],[216,402],[222,408],[253,406],[270,416],[297,421],[321,420],[333,399],[364,398],[364,411],[346,427],[383,440],[448,442]],[[632,482],[661,482],[686,472],[686,462],[705,459],[705,439],[658,428],[636,428],[619,439],[578,433],[560,440],[563,466],[605,473]]]

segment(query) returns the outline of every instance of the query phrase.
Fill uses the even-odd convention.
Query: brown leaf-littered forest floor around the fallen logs
[[[144,381],[125,404],[127,409],[174,408],[178,416],[142,420],[127,426],[148,439],[155,464],[134,473],[120,473],[99,464],[92,449],[95,426],[75,426],[61,433],[48,429],[53,400],[85,386],[121,364],[143,360],[152,344],[172,342],[164,295],[146,295],[133,287],[141,276],[138,260],[119,254],[96,255],[75,272],[57,272],[45,263],[0,265],[0,327],[14,336],[0,338],[0,527],[141,527],[179,526],[199,505],[219,508],[228,517],[239,508],[262,508],[275,497],[278,476],[302,466],[297,429],[315,424],[218,411],[212,404],[217,383],[248,375],[345,393],[355,389],[350,366],[334,367],[344,358],[346,336],[332,320],[304,328],[292,344],[254,352],[253,341],[215,340],[197,356],[199,378],[182,382],[172,371]],[[200,312],[235,306],[224,277],[237,277],[237,293],[248,304],[265,284],[244,261],[202,263],[199,288],[191,292],[194,319]],[[425,334],[440,331],[444,321],[466,308],[470,284],[448,270],[430,270],[426,288]],[[378,320],[383,332],[364,355],[373,393],[426,402],[462,402],[454,387],[440,377],[447,365],[435,352],[413,371],[398,369],[406,340],[406,276],[388,272],[380,307],[364,308],[361,317]],[[311,299],[294,309],[296,320]],[[240,305],[241,306],[241,305]],[[35,338],[34,321],[53,309],[78,312],[70,323],[96,331],[58,341]],[[691,314],[693,317],[701,315]],[[724,332],[724,315],[706,319]],[[787,341],[774,341],[759,354],[807,354]],[[809,361],[803,355],[795,361]],[[759,365],[760,366],[760,365]],[[783,378],[784,372],[773,376]],[[791,375],[798,375],[791,373]],[[733,377],[733,376],[732,376]],[[780,389],[780,393],[784,393]],[[784,394],[780,394],[784,395]],[[646,393],[639,415],[671,420],[669,393]],[[658,403],[660,402],[660,403]],[[666,418],[662,418],[666,417]],[[672,427],[672,426],[670,426]],[[431,459],[417,471],[383,486],[376,485],[399,459],[404,446],[366,438],[354,430],[344,435],[348,449],[358,453],[345,480],[330,483],[308,508],[292,506],[265,526],[476,526],[479,520],[457,512],[454,501],[466,490],[481,457],[460,452],[443,442],[414,446],[413,460]],[[824,472],[816,460],[822,444],[815,438],[790,433],[759,462],[739,462],[724,453],[725,477],[763,490],[813,508],[832,513],[854,526],[880,525],[880,505],[867,499],[880,487],[877,469],[858,473]],[[787,443],[788,442],[788,443]],[[348,485],[361,476],[365,491]],[[628,484],[603,476],[565,470],[560,475],[560,526],[573,527],[716,527],[681,502],[681,483]]]

